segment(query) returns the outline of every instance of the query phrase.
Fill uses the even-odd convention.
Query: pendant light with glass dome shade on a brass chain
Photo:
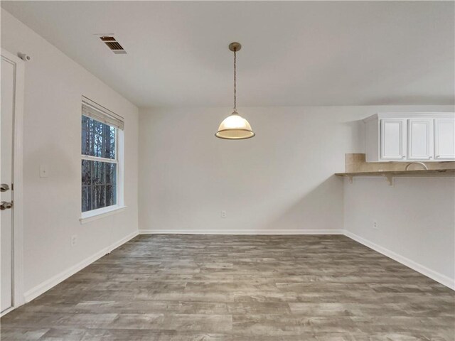
[[[237,113],[237,51],[240,51],[240,48],[240,43],[229,44],[229,50],[234,53],[234,111],[221,122],[215,134],[220,139],[242,140],[255,136],[248,121]]]

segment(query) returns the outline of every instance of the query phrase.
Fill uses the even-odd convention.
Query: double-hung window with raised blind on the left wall
[[[82,218],[122,206],[119,144],[123,119],[82,99]]]

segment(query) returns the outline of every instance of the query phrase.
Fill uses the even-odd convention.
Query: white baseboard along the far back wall
[[[139,234],[343,234],[343,229],[140,229]]]

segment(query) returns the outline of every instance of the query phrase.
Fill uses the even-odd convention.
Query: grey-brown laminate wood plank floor
[[[454,291],[344,236],[141,235],[1,340],[454,341]]]

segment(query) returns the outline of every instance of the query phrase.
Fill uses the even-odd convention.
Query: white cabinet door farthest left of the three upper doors
[[[380,121],[381,160],[403,160],[406,158],[406,120],[381,119]]]

